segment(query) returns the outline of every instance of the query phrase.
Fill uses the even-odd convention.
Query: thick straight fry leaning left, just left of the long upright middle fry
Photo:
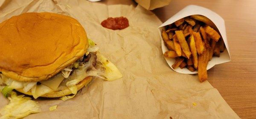
[[[180,43],[180,46],[181,46],[181,48],[182,48],[182,51],[186,54],[186,57],[189,58],[190,55],[191,55],[191,52],[190,52],[190,50],[189,50],[189,45],[188,45],[188,43],[186,42],[186,39],[185,39],[185,37],[184,37],[182,31],[175,31],[175,34],[176,34],[177,39],[178,39],[178,41],[179,41],[179,43]]]

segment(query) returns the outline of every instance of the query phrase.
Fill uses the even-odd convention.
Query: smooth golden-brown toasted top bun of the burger
[[[0,71],[17,81],[49,79],[82,57],[89,44],[74,18],[24,13],[0,23]]]

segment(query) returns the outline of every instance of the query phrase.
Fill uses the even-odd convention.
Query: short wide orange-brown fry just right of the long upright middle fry
[[[202,54],[205,51],[205,46],[202,41],[201,35],[198,32],[193,33],[194,39],[195,39],[195,46],[198,54]]]

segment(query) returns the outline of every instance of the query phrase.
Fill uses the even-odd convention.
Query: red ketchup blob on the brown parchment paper
[[[108,29],[121,30],[129,26],[129,21],[125,17],[109,17],[107,20],[102,21],[101,25]]]

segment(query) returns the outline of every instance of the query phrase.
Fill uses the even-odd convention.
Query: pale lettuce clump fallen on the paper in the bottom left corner
[[[30,97],[19,95],[12,91],[8,97],[9,104],[0,110],[2,115],[0,119],[19,119],[28,116],[31,113],[41,112],[38,102],[31,100]]]

